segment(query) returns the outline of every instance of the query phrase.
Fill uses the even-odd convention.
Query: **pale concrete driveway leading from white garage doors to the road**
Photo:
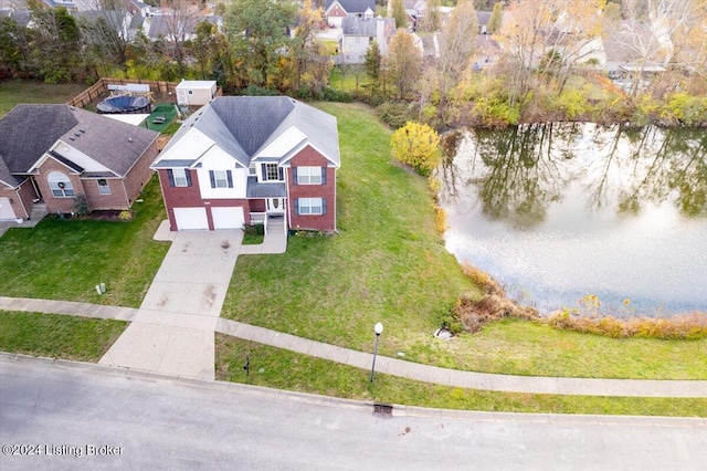
[[[167,239],[172,245],[135,320],[99,363],[213,379],[213,333],[243,232],[181,231]]]

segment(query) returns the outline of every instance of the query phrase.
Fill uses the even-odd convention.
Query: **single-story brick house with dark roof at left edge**
[[[18,105],[0,119],[2,219],[28,219],[35,203],[71,212],[125,210],[152,175],[152,130],[68,105]],[[8,209],[8,207],[10,209]]]

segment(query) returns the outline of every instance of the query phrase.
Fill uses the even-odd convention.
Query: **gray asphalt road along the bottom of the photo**
[[[361,402],[9,355],[0,444],[3,471],[707,469],[705,419],[384,418]]]

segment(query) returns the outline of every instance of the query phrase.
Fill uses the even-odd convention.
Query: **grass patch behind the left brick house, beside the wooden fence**
[[[0,81],[0,118],[20,103],[66,103],[85,88],[85,84],[51,85],[22,80]]]

